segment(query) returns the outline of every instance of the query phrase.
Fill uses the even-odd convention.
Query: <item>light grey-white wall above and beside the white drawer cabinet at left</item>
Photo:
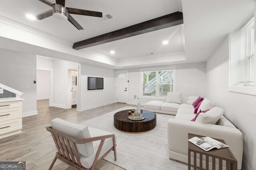
[[[0,49],[0,83],[23,92],[22,115],[36,111],[36,55]],[[26,89],[29,85],[30,89]]]

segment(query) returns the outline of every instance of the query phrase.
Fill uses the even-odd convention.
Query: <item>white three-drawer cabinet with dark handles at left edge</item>
[[[22,101],[0,101],[0,139],[21,133]]]

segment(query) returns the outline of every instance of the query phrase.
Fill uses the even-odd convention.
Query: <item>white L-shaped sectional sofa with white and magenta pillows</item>
[[[205,113],[205,115],[214,115],[215,113],[219,114],[222,112],[222,116],[220,116],[220,118],[217,120],[210,122],[209,120],[206,120],[209,119],[209,117],[200,117],[202,114],[200,113],[196,121],[191,121],[196,114],[194,113],[194,106],[191,104],[186,104],[187,101],[188,97],[182,97],[181,104],[168,104],[167,100],[165,99],[165,102],[151,101],[144,105],[145,109],[157,113],[176,115],[174,119],[168,120],[169,158],[188,163],[188,133],[192,133],[217,139],[223,139],[236,157],[238,161],[238,169],[240,170],[242,168],[243,153],[242,133],[230,121],[228,121],[226,117],[222,115],[224,110],[220,107],[216,107],[216,104],[211,102],[208,98],[203,100],[198,111],[200,109],[210,109]],[[201,123],[205,120],[209,121],[209,123]],[[203,157],[203,162],[204,160],[205,158]],[[210,158],[209,167],[212,167],[211,161],[212,160]],[[194,163],[194,158],[191,159],[191,163]],[[197,158],[197,164],[199,164],[199,158]],[[218,160],[216,161],[216,164],[218,164]],[[223,163],[223,169],[226,169],[225,165],[226,163]],[[216,168],[218,168],[218,166],[216,166]]]

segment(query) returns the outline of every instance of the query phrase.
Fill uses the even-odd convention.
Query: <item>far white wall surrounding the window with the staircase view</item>
[[[206,63],[176,64],[162,67],[172,68],[174,66],[176,67],[176,92],[182,92],[182,96],[206,96]],[[145,68],[150,70],[150,67]],[[159,68],[161,67],[159,66]],[[134,95],[140,96],[140,68],[116,71],[122,70],[128,70],[127,103],[136,104]],[[140,99],[142,105],[151,100],[156,99]]]

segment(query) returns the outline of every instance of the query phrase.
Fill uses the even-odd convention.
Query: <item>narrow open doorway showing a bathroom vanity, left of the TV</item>
[[[72,109],[77,109],[78,102],[78,69],[73,68],[68,70],[68,81],[69,81],[69,107]]]

